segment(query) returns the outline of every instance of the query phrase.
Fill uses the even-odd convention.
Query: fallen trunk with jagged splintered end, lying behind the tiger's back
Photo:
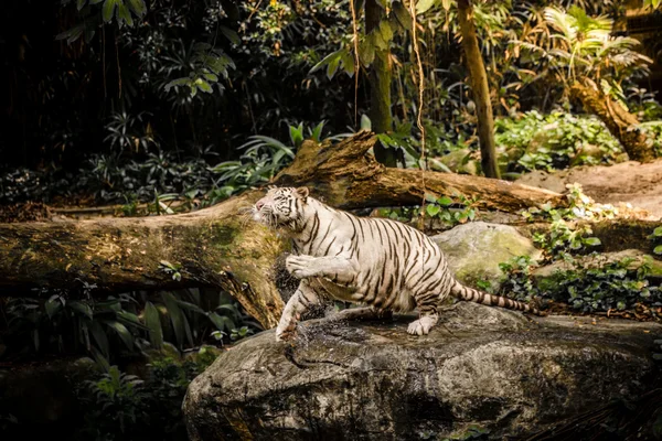
[[[564,204],[559,193],[508,181],[453,173],[385,168],[370,154],[376,138],[361,132],[335,146],[306,141],[277,185],[308,185],[312,194],[341,208],[420,204],[425,194],[463,194],[482,208],[516,212],[546,202]]]

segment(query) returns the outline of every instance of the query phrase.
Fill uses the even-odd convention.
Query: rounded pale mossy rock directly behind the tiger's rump
[[[494,289],[503,276],[499,263],[516,256],[541,258],[533,241],[509,225],[471,222],[433,237],[448,259],[455,276],[463,283],[489,280]]]

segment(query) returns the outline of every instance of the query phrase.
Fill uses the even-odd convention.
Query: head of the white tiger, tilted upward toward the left
[[[267,194],[253,206],[253,219],[269,227],[296,229],[303,218],[308,187],[269,186]]]

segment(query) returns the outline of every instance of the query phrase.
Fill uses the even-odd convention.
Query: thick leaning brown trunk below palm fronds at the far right
[[[600,118],[609,132],[623,146],[632,161],[651,162],[655,159],[652,143],[649,142],[647,135],[637,127],[639,120],[620,104],[580,83],[573,85],[570,95],[581,104],[586,111]]]

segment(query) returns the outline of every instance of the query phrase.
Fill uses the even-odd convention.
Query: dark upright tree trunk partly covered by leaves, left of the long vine
[[[380,23],[384,11],[377,0],[365,1],[365,34],[380,32]],[[391,44],[391,42],[386,42]],[[393,130],[391,114],[391,49],[375,50],[375,60],[370,67],[370,120],[375,133],[386,133]],[[394,149],[384,147],[381,142],[375,146],[375,158],[386,166],[397,165]]]

